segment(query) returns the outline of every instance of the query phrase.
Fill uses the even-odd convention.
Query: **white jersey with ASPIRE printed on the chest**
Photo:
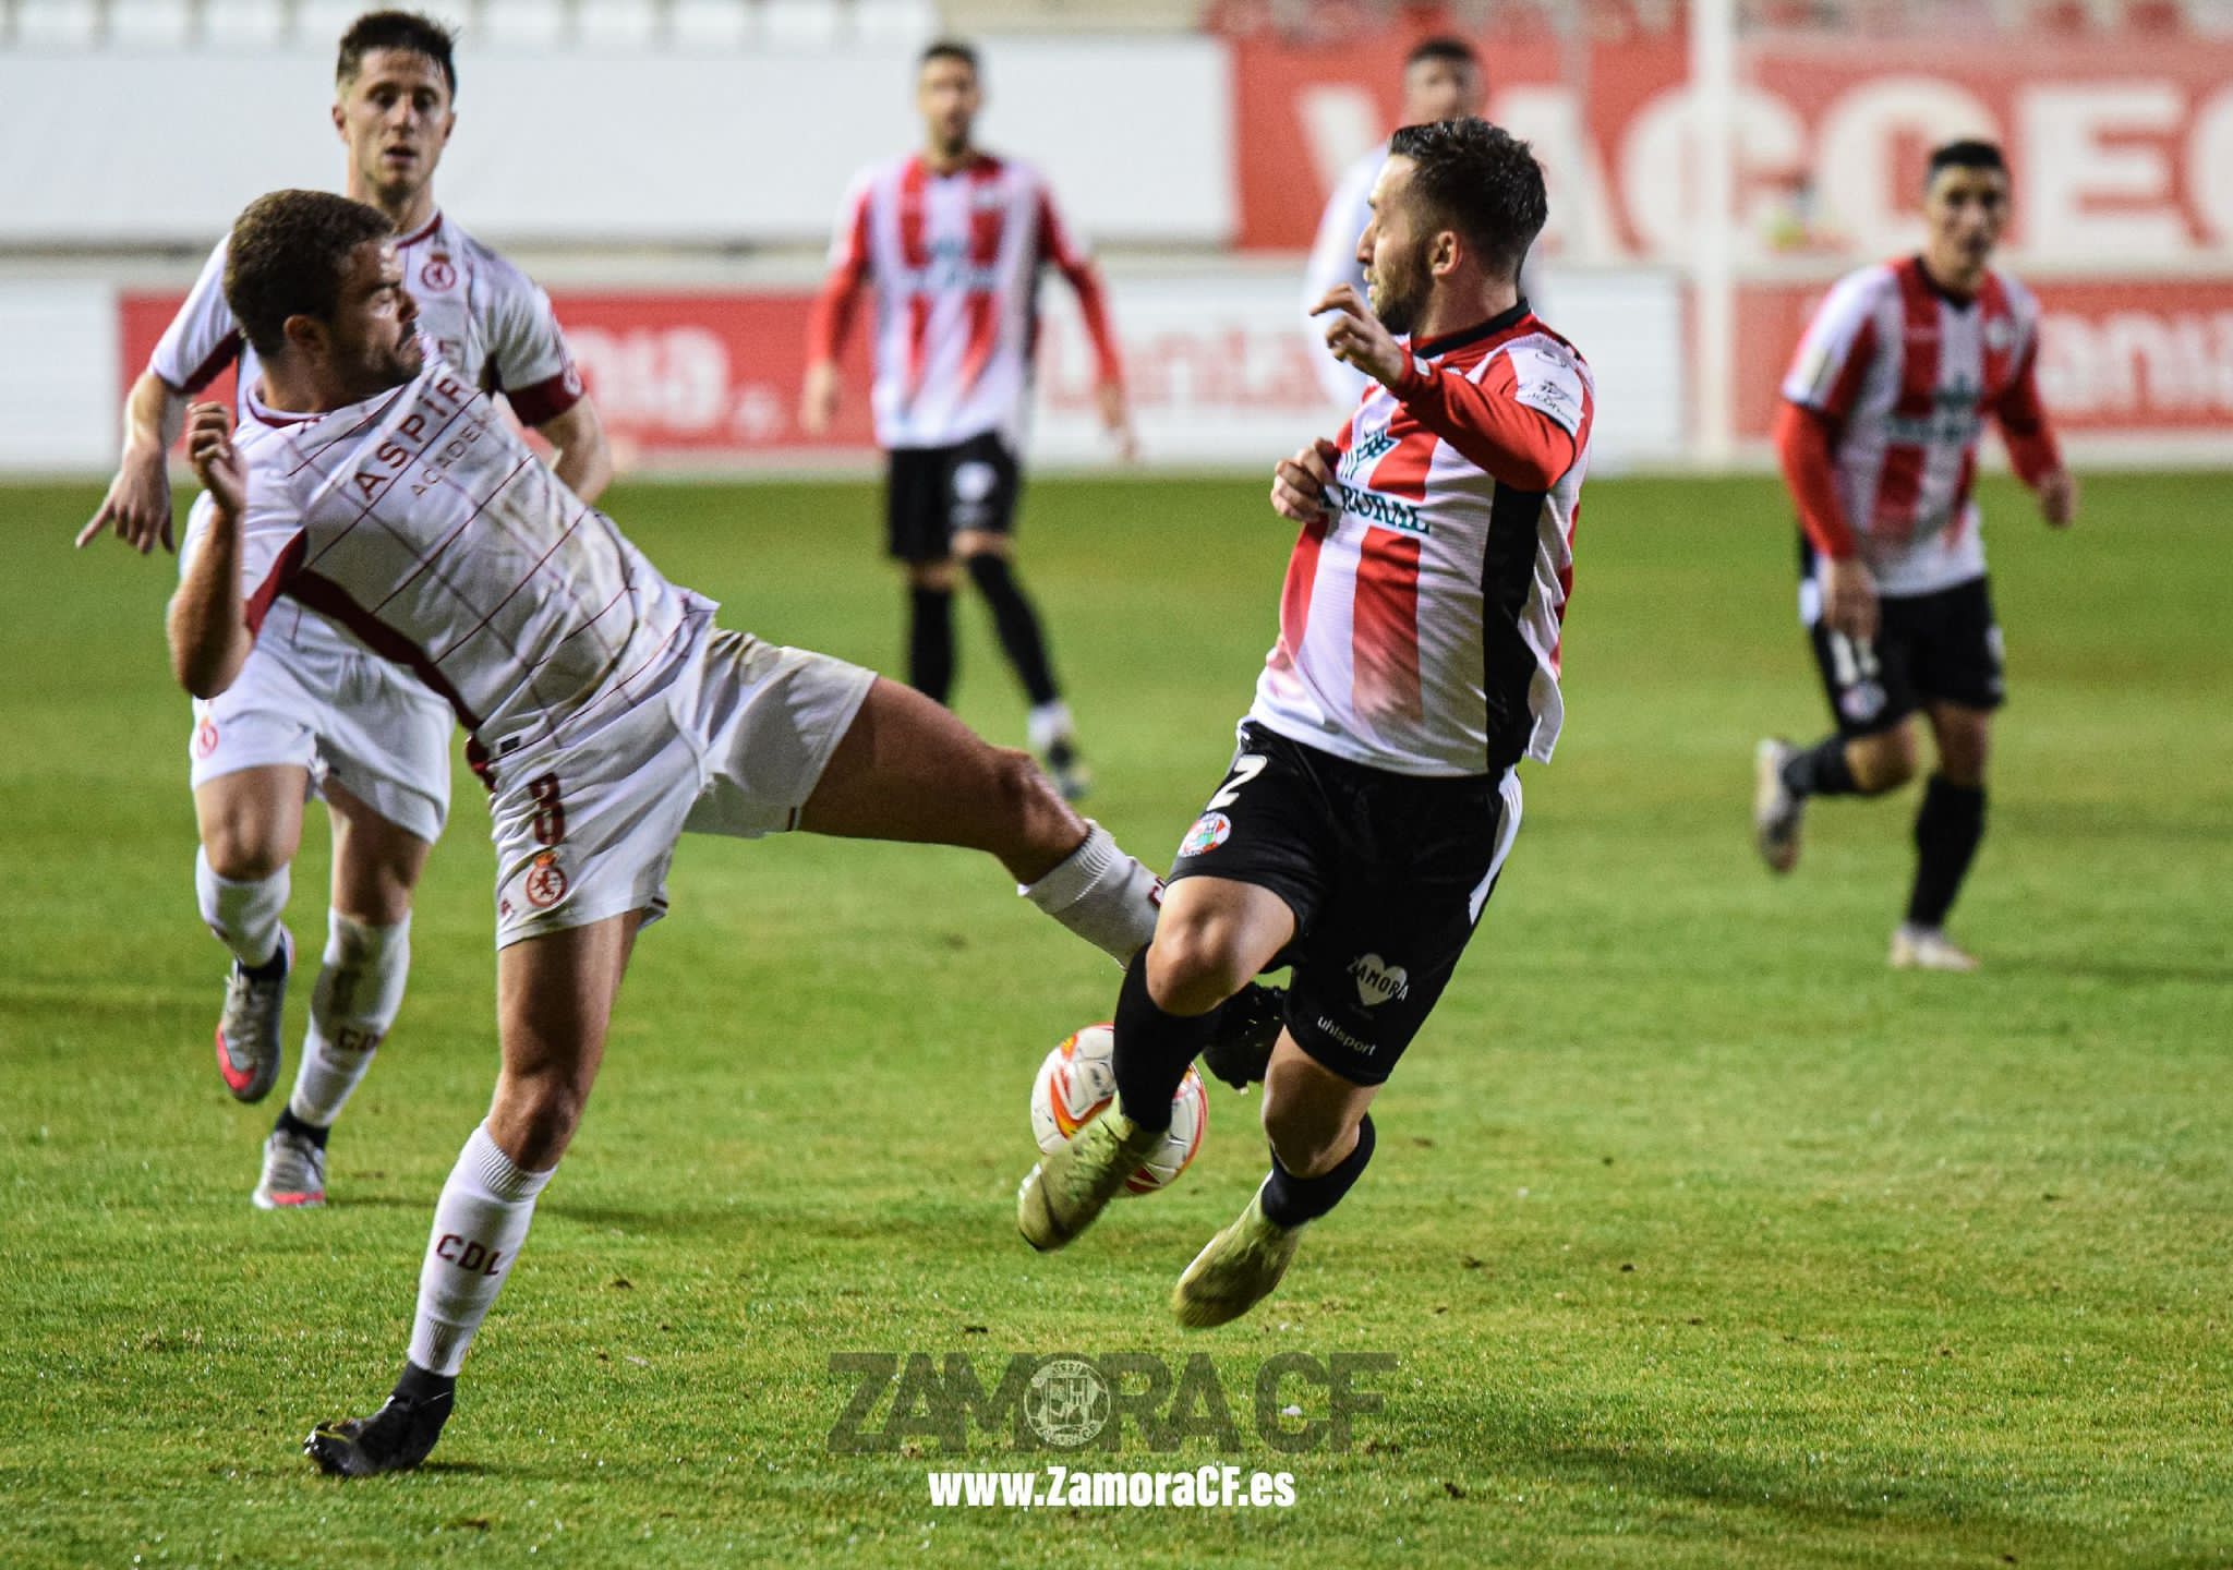
[[[594,730],[712,623],[442,360],[246,462],[250,630],[281,594],[330,616],[449,699],[476,766]]]

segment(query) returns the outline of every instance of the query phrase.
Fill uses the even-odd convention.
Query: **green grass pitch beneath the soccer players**
[[[1025,563],[1101,773],[1163,860],[1215,786],[1286,529],[1259,482],[1034,482]],[[2050,536],[1990,485],[2012,703],[1956,913],[1976,978],[1889,974],[1911,800],[1746,844],[1813,735],[1773,485],[1592,482],[1570,726],[1382,1150],[1277,1298],[1163,1298],[1262,1166],[1197,1168],[1041,1260],[1009,1219],[1041,1052],[1114,971],[962,853],[690,842],[587,1123],[427,1472],[310,1474],[397,1367],[427,1217],[493,1079],[478,793],[335,1206],[248,1208],[270,1108],[210,1070],[170,567],[71,556],[94,489],[0,491],[0,1561],[418,1566],[2206,1566],[2233,1561],[2233,480],[2115,478]],[[889,666],[866,487],[623,489],[730,625]],[[1020,737],[969,607],[962,712]],[[324,833],[290,920],[315,951]],[[293,1001],[299,1021],[306,987]],[[275,1099],[277,1101],[277,1099]],[[1387,1351],[1282,1512],[945,1510],[833,1456],[833,1351]],[[922,1449],[920,1445],[916,1449]]]

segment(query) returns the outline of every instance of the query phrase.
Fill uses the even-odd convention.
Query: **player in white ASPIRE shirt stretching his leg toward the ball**
[[[286,605],[317,607],[451,703],[491,791],[496,1097],[435,1206],[393,1398],[306,1440],[326,1472],[366,1476],[418,1465],[449,1418],[581,1123],[636,931],[665,913],[683,833],[980,849],[1119,963],[1148,942],[1159,887],[1029,755],[869,670],[715,628],[710,601],[663,578],[424,355],[373,208],[255,201],[226,297],[263,360],[263,402],[324,418],[241,449],[223,409],[194,411],[212,518],[170,612],[181,686],[223,692]]]

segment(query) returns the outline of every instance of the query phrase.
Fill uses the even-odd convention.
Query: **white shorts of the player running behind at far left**
[[[299,619],[297,619],[299,616]],[[279,605],[232,686],[194,699],[192,786],[293,764],[310,793],[339,779],[404,833],[433,842],[449,817],[449,703],[317,614]]]

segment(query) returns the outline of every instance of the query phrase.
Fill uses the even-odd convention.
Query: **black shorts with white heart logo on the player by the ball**
[[[1286,1027],[1320,1065],[1378,1085],[1449,985],[1516,829],[1514,775],[1396,775],[1244,724],[1170,882],[1230,878],[1286,900]]]

